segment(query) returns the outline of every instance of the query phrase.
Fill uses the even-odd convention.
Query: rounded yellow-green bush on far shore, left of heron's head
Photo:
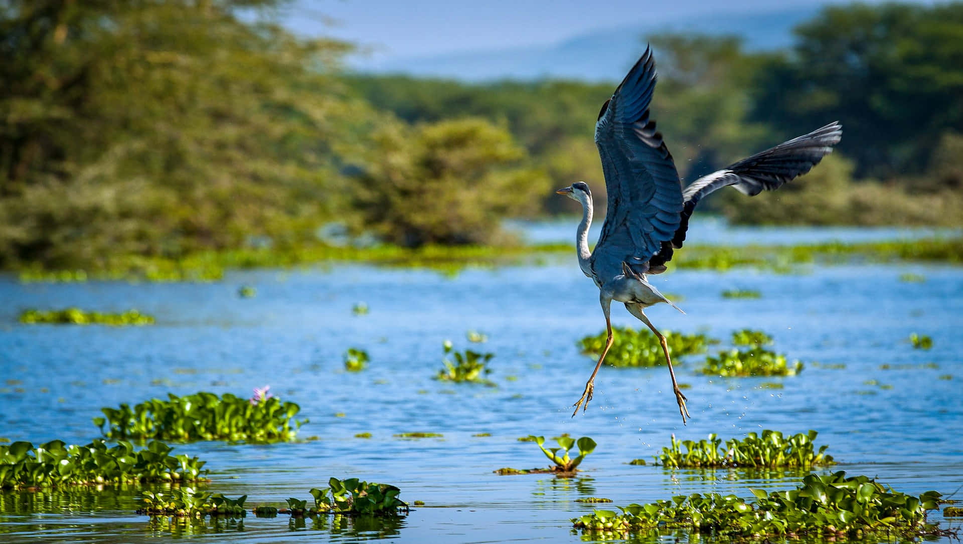
[[[483,119],[386,122],[373,140],[351,184],[355,227],[391,244],[496,242],[502,218],[550,187],[508,131]]]

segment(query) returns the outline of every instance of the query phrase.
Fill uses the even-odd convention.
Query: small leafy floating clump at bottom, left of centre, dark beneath
[[[314,511],[321,513],[397,515],[407,512],[398,495],[401,489],[387,483],[368,483],[356,478],[329,479],[324,489],[311,489]]]

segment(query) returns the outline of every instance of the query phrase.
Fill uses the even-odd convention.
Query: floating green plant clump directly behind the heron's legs
[[[612,327],[612,348],[606,355],[606,363],[613,367],[658,367],[665,365],[665,355],[659,338],[648,329],[635,330],[629,327]],[[668,352],[673,357],[701,353],[709,344],[716,342],[704,334],[682,334],[664,331]],[[594,358],[605,349],[606,331],[594,336],[586,336],[578,342],[579,349]]]

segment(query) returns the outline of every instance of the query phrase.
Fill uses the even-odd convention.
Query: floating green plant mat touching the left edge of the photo
[[[0,446],[0,489],[204,480],[204,461],[170,451],[157,441],[142,450],[123,440],[112,447],[100,439],[86,446],[53,440],[36,448],[30,442],[14,442]]]

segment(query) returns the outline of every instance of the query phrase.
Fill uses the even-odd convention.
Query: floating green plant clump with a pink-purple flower
[[[168,400],[151,399],[133,409],[101,408],[105,418],[93,418],[108,438],[158,438],[161,440],[226,440],[230,442],[287,442],[295,439],[307,420],[293,418],[300,411],[294,402],[280,402],[268,387],[255,389],[254,399],[201,391]],[[104,426],[107,425],[105,429]]]

